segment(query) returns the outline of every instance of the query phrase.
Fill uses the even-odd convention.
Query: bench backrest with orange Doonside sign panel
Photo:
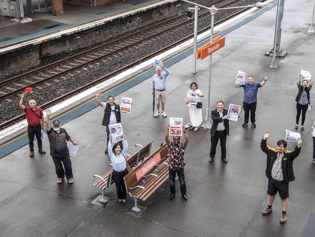
[[[159,165],[167,159],[169,150],[167,144],[163,144],[156,152],[151,154],[145,161],[143,161],[139,166],[130,171],[125,177],[125,185],[128,190],[131,187],[137,186],[149,173],[152,173],[156,169],[156,165]]]

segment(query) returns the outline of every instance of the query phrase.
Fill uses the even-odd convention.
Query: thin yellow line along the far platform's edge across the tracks
[[[77,27],[77,26],[79,26],[79,25],[84,25],[84,24],[87,24],[87,23],[90,23],[90,22],[93,22],[93,21],[97,21],[97,20],[101,20],[101,19],[106,19],[106,18],[108,18],[108,17],[116,16],[116,15],[119,15],[119,14],[122,14],[122,13],[125,13],[125,12],[128,12],[128,11],[133,11],[133,10],[135,10],[135,9],[142,8],[142,7],[145,7],[145,6],[148,6],[148,5],[152,5],[152,4],[155,4],[155,3],[160,2],[160,1],[163,1],[163,0],[157,0],[157,1],[154,1],[154,2],[146,3],[146,4],[141,5],[141,6],[138,6],[138,7],[126,9],[126,10],[124,10],[124,11],[121,11],[121,12],[118,12],[118,13],[113,13],[113,14],[110,14],[110,15],[107,15],[107,16],[104,16],[104,17],[99,17],[99,18],[96,18],[96,19],[84,21],[84,22],[78,23],[78,24],[76,24],[76,25],[67,26],[67,27],[65,27],[65,28],[62,28],[62,29],[59,29],[59,30],[55,30],[55,31],[51,31],[51,32],[49,32],[49,33],[44,33],[44,34],[36,35],[36,36],[31,37],[31,38],[21,39],[21,40],[19,40],[19,41],[14,42],[14,43],[10,43],[10,44],[3,45],[3,46],[0,47],[0,49],[5,48],[5,47],[7,47],[7,46],[9,46],[9,45],[18,44],[19,42],[24,42],[24,41],[26,41],[26,40],[29,41],[29,40],[31,40],[31,39],[39,38],[39,37],[42,37],[42,36],[44,36],[44,35],[53,34],[53,33],[55,33],[55,32],[62,32],[62,31],[64,31],[64,30],[67,30],[67,29],[70,29],[70,28],[73,28],[73,27]],[[70,23],[68,23],[68,24],[70,24]]]

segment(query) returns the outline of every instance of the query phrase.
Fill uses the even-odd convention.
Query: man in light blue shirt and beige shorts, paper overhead
[[[168,69],[166,69],[163,66],[163,64],[161,65],[161,67],[156,68],[156,72],[157,74],[155,74],[152,78],[152,86],[151,86],[151,92],[155,96],[155,102],[157,104],[157,113],[154,115],[154,117],[158,117],[160,115],[160,112],[159,112],[160,102],[162,103],[161,115],[163,117],[166,117],[167,115],[164,113],[164,107],[165,107],[165,101],[166,101],[166,77],[170,74],[170,72]]]

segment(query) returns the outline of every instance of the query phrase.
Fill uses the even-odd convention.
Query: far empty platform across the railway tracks
[[[65,14],[52,16],[50,11],[25,13],[32,21],[24,24],[11,22],[9,17],[0,17],[0,53],[74,34],[170,1],[124,0],[97,7],[65,3]]]

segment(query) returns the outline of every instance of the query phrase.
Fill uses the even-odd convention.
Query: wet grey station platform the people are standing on
[[[305,130],[301,133],[302,148],[294,161],[296,180],[290,183],[288,220],[281,225],[280,198],[273,204],[273,212],[264,217],[267,204],[265,176],[266,154],[260,150],[260,141],[266,129],[271,131],[268,143],[276,147],[285,130],[294,130],[297,94],[296,80],[300,69],[312,71],[315,53],[314,35],[306,34],[312,14],[312,0],[286,0],[282,23],[282,49],[288,54],[277,59],[278,68],[268,68],[271,58],[264,56],[272,48],[277,8],[261,15],[243,19],[218,34],[226,37],[225,47],[213,55],[210,109],[223,100],[225,108],[230,103],[242,105],[243,90],[235,84],[238,70],[253,74],[255,81],[268,75],[268,82],[258,90],[256,128],[241,126],[243,111],[237,122],[230,121],[227,138],[227,160],[220,159],[220,148],[210,164],[209,131],[189,131],[189,144],[185,152],[185,179],[188,201],[181,198],[179,182],[176,196],[169,200],[169,182],[166,181],[146,202],[141,217],[134,217],[127,204],[118,203],[116,188],[110,186],[105,195],[111,199],[106,207],[92,203],[99,195],[91,187],[93,175],[108,171],[110,159],[104,154],[106,132],[101,125],[103,109],[81,113],[95,99],[60,116],[62,127],[76,140],[79,151],[72,157],[75,183],[56,183],[51,157],[38,154],[28,156],[28,146],[0,159],[0,237],[6,236],[172,236],[172,237],[311,237],[315,236],[315,164],[312,163],[312,131],[314,111],[307,112]],[[247,22],[246,24],[244,24]],[[242,24],[243,23],[243,24]],[[228,34],[227,34],[228,33]],[[136,143],[145,144],[153,139],[152,151],[164,141],[169,117],[189,121],[189,108],[184,98],[191,82],[197,82],[206,94],[209,61],[197,61],[197,73],[192,74],[191,49],[173,55],[164,65],[170,70],[167,79],[167,118],[154,118],[152,114],[151,76],[146,70],[123,85],[106,91],[109,94],[133,98],[130,114],[122,114],[124,133],[129,143],[128,152]],[[314,72],[313,72],[314,73]],[[142,79],[143,80],[142,80]],[[313,95],[311,90],[311,97]],[[311,99],[312,100],[312,99]],[[206,99],[203,102],[205,117]],[[91,103],[91,104],[90,104]],[[92,105],[91,105],[92,106]],[[53,119],[52,115],[52,119]],[[18,139],[18,138],[17,138]],[[289,142],[287,149],[292,150]],[[36,146],[36,145],[35,145]],[[48,141],[44,149],[49,150]]]

